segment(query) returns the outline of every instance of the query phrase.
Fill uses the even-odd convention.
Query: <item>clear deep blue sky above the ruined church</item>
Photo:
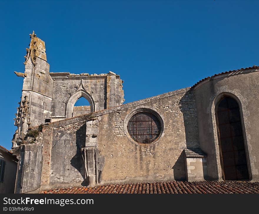
[[[29,33],[51,72],[107,73],[125,102],[259,65],[259,1],[0,1],[0,145],[11,148]]]

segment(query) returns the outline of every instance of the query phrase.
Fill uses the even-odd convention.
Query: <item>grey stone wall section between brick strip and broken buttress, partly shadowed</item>
[[[85,121],[53,128],[49,184],[81,184],[84,180],[81,148],[85,147],[85,138]]]

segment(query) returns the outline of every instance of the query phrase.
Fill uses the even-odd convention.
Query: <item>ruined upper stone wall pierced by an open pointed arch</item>
[[[69,102],[77,91],[86,91],[90,98],[86,97],[91,104],[93,111],[100,111],[109,107],[119,106],[124,101],[122,90],[122,80],[119,75],[109,74],[70,74],[70,73],[50,73],[54,79],[52,115],[53,121],[62,118],[69,118],[67,112]],[[80,96],[80,95],[79,95]],[[72,99],[74,103],[77,100]]]

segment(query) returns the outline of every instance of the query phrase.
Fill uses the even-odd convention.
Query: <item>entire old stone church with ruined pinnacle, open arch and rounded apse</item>
[[[119,75],[49,72],[44,41],[30,36],[25,71],[15,72],[24,78],[15,193],[176,181],[256,186],[258,66],[123,104]],[[74,106],[81,97],[89,106]]]

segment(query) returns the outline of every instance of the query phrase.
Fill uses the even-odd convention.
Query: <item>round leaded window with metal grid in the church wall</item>
[[[133,140],[146,144],[155,141],[160,136],[161,123],[153,113],[141,111],[129,119],[127,129]]]

